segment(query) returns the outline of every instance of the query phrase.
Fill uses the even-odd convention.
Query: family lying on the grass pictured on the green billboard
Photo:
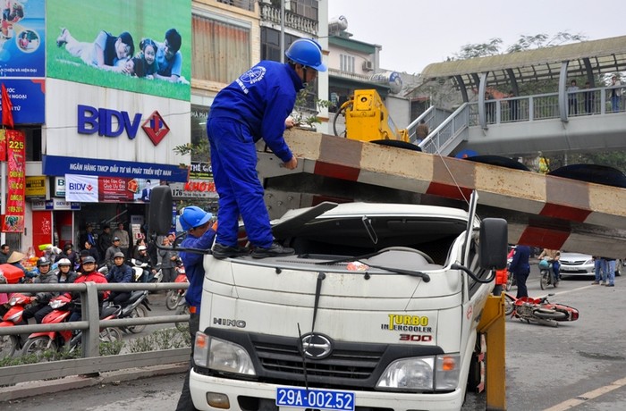
[[[131,33],[123,31],[118,36],[101,30],[92,42],[79,41],[69,29],[61,29],[56,45],[65,47],[70,55],[84,63],[104,71],[115,71],[130,76],[188,83],[182,76],[182,37],[177,29],[165,31],[165,38],[157,42],[141,38],[135,53],[135,40]]]

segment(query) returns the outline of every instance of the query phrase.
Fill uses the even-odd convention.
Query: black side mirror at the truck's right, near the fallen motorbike
[[[503,218],[486,218],[480,222],[480,267],[486,270],[506,268],[509,230]]]

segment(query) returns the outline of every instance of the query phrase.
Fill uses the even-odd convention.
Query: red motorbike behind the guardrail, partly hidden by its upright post
[[[72,302],[72,298],[61,295],[50,300],[49,305],[53,311],[46,315],[41,323],[63,323],[69,320],[72,315],[71,306],[79,303]],[[120,306],[110,306],[103,309],[100,319],[119,318],[122,309]],[[72,332],[72,330],[63,331],[42,331],[33,332],[29,339],[24,343],[21,355],[36,355],[39,358],[46,358],[47,351],[60,351],[67,346],[70,352],[80,347],[82,340],[82,331]],[[102,342],[112,342],[114,340],[122,340],[122,332],[114,327],[106,327],[99,334],[99,340]]]

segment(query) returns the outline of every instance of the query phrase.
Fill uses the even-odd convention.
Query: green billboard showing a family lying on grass
[[[55,0],[46,26],[48,78],[190,100],[190,0]]]

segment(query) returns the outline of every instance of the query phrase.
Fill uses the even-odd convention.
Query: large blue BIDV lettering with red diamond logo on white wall
[[[136,113],[131,119],[131,114],[128,112],[79,105],[78,132],[80,134],[97,133],[98,136],[118,137],[126,131],[128,138],[133,139],[137,136],[137,131],[140,128],[141,116],[141,113]],[[152,113],[148,120],[141,124],[141,129],[146,132],[155,146],[170,131],[158,112]]]

